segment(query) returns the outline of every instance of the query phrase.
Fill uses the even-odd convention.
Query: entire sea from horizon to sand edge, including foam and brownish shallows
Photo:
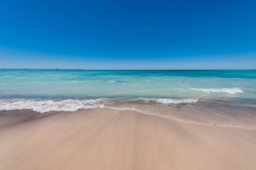
[[[256,128],[253,70],[0,70],[0,110],[135,110],[196,124]]]

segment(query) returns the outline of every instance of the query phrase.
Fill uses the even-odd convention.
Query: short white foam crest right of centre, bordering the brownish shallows
[[[159,103],[166,104],[179,104],[179,103],[196,103],[198,102],[197,98],[184,98],[184,99],[175,99],[175,98],[141,98],[145,102],[156,101]]]

